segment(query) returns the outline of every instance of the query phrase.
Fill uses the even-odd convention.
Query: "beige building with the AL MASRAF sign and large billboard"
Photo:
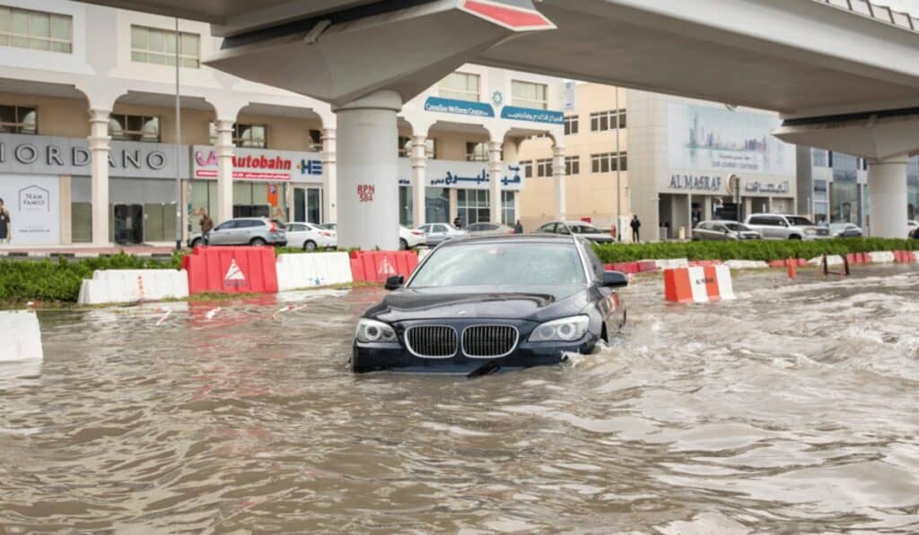
[[[565,104],[565,217],[601,228],[641,219],[642,240],[688,238],[704,219],[794,213],[797,154],[774,138],[775,113],[599,84],[574,84]],[[550,139],[520,150],[527,230],[551,220]],[[617,187],[618,184],[618,187]]]

